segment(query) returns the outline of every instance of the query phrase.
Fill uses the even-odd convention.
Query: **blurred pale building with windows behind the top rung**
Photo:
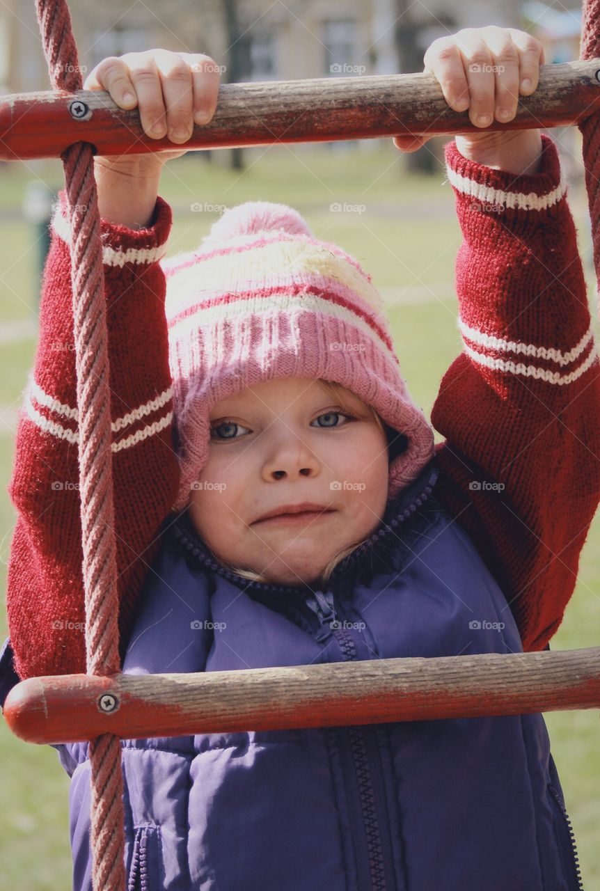
[[[485,24],[529,27],[549,47],[547,61],[579,55],[577,0],[557,7],[540,0],[71,0],[70,12],[84,80],[106,56],[151,46],[208,53],[226,65],[224,81],[420,71],[436,37]],[[3,0],[0,89],[48,87],[34,4]],[[440,141],[430,146],[440,154]]]

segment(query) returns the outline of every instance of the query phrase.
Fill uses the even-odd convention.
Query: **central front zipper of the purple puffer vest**
[[[343,660],[356,660],[357,650],[355,642],[336,615],[333,593],[331,591],[325,593],[315,591],[314,597],[308,597],[306,603],[319,620],[319,631],[316,634],[316,641],[323,643],[333,635],[339,644]],[[329,728],[329,730],[335,731],[336,729]],[[373,779],[366,751],[366,732],[358,726],[349,727],[347,730],[365,822],[371,889],[372,891],[389,891],[385,879],[382,834],[377,821]]]

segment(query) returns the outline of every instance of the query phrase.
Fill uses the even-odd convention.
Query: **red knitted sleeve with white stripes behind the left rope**
[[[160,267],[171,223],[171,209],[160,197],[148,228],[133,230],[101,220],[121,660],[160,524],[177,493],[166,284]],[[18,420],[9,484],[17,519],[7,613],[21,680],[86,671],[69,242],[62,190],[42,280],[37,354]]]

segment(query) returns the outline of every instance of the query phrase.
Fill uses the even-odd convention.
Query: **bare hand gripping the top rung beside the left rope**
[[[152,49],[103,59],[90,71],[83,86],[85,90],[106,90],[119,108],[138,107],[146,135],[152,139],[168,135],[171,142],[180,144],[190,138],[194,123],[208,124],[214,115],[219,80],[220,67],[204,53]],[[160,168],[185,151],[107,155],[104,159],[111,168]]]

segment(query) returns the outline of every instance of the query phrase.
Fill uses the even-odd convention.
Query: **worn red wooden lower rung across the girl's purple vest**
[[[62,674],[12,688],[21,740],[60,743],[600,707],[600,647],[195,674]]]

